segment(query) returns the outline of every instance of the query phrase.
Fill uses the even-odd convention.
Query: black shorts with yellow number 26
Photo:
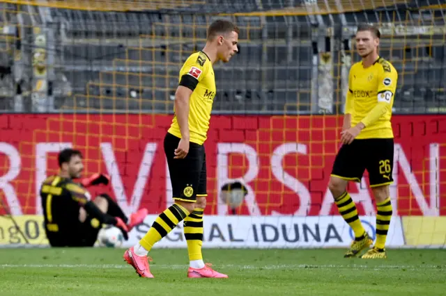
[[[393,182],[393,149],[392,138],[353,140],[339,149],[331,175],[360,182],[367,170],[370,187],[388,185]]]

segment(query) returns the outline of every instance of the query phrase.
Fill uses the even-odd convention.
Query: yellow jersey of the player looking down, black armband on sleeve
[[[179,84],[192,90],[189,101],[190,142],[203,145],[207,138],[210,113],[217,92],[212,63],[203,51],[187,58],[180,69]],[[172,120],[169,133],[181,138],[176,116]]]

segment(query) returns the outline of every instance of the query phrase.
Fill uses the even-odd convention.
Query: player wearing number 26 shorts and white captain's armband
[[[393,181],[394,156],[390,117],[398,74],[392,64],[378,56],[379,40],[378,28],[369,25],[357,28],[355,41],[362,61],[351,67],[348,76],[342,146],[334,160],[329,184],[339,213],[355,233],[346,258],[357,256],[373,243],[346,192],[348,181],[360,182],[364,170],[369,172],[378,212],[375,245],[361,258],[387,258],[385,240],[392,217],[389,185]]]

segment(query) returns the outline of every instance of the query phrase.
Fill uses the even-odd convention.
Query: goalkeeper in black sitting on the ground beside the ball
[[[82,154],[74,149],[59,153],[60,172],[49,176],[40,188],[45,217],[45,232],[52,247],[93,247],[102,224],[112,224],[123,232],[141,223],[147,215],[143,208],[128,217],[107,194],[93,200],[86,187],[109,183],[109,176],[93,174],[75,183],[81,177],[84,165]]]

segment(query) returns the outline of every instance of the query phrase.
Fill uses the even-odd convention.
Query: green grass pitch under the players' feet
[[[185,249],[153,249],[155,279],[123,249],[0,249],[0,295],[446,295],[446,251],[390,249],[387,260],[344,249],[204,249],[229,279],[187,279]]]

